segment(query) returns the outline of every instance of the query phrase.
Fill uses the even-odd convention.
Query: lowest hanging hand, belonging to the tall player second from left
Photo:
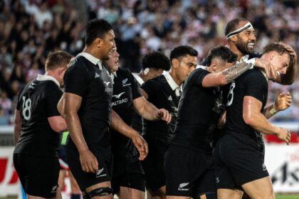
[[[84,172],[95,173],[98,171],[98,160],[90,150],[80,152],[80,163]]]

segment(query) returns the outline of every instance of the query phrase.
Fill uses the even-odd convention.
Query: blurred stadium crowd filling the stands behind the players
[[[79,1],[80,2],[80,1]],[[65,50],[72,55],[84,47],[84,26],[90,18],[104,18],[115,30],[120,65],[141,69],[140,58],[152,50],[169,56],[177,45],[192,45],[198,60],[216,45],[225,45],[224,27],[232,18],[247,18],[256,29],[261,52],[268,41],[282,41],[299,52],[297,1],[81,1],[80,12],[68,0],[0,0],[0,125],[12,124],[16,96],[42,74],[46,55]],[[82,7],[82,6],[81,6]],[[291,86],[269,84],[268,102],[290,92],[290,109],[275,121],[299,120],[299,79]]]

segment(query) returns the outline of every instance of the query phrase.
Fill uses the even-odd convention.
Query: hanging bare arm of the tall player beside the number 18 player
[[[80,109],[82,97],[68,92],[65,92],[64,95],[64,118],[68,124],[70,137],[78,149],[82,170],[85,172],[95,173],[98,171],[98,160],[88,149],[78,117],[78,110]]]

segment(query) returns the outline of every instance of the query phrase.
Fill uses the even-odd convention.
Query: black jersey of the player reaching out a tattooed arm
[[[218,107],[222,105],[216,100],[219,95],[216,87],[202,87],[202,80],[209,73],[198,68],[184,82],[172,144],[211,153],[213,129],[209,128],[215,128],[213,121],[215,115],[219,117]]]

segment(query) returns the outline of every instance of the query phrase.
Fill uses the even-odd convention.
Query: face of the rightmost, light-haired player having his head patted
[[[271,65],[273,68],[278,71],[280,74],[285,74],[286,70],[288,69],[288,65],[290,63],[290,57],[288,54],[284,53],[283,55],[279,55],[276,52],[273,52],[274,55],[270,60]]]

